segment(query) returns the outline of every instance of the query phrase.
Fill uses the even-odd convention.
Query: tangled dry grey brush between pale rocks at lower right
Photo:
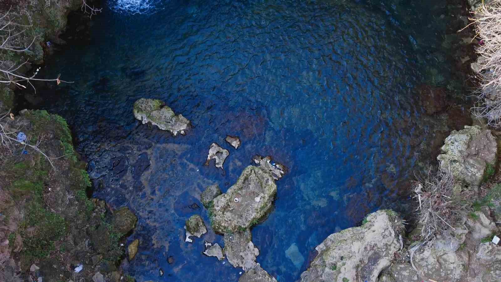
[[[471,209],[471,203],[454,193],[456,184],[449,170],[439,170],[418,177],[413,198],[418,202],[418,224],[424,241],[434,240],[436,235],[452,228]]]

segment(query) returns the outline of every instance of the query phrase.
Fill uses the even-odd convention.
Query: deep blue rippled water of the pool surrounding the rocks
[[[89,45],[47,61],[41,75],[75,83],[50,90],[58,98],[42,107],[68,119],[94,196],[139,217],[126,270],[140,281],[236,281],[241,269],[202,255],[203,240],[222,237],[188,244],[183,225],[192,214],[208,225],[200,192],[226,191],[256,154],[290,168],[275,210],[252,230],[258,262],[280,281],[298,279],[329,234],[379,208],[408,209],[401,183],[427,158],[419,147],[431,126],[413,89],[436,82],[430,69],[446,80],[452,66],[436,59],[446,10],[435,5],[109,1]],[[132,104],[141,97],[164,100],[194,128],[172,137],[140,124]],[[212,142],[230,151],[225,174],[203,166]],[[293,244],[303,263],[286,256]]]

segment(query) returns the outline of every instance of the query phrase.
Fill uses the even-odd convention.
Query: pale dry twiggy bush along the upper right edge
[[[473,95],[477,104],[475,116],[485,118],[488,125],[501,128],[501,0],[477,9],[471,18],[480,44],[476,49],[479,86]]]

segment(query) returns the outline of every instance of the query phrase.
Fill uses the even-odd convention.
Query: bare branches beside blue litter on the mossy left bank
[[[9,154],[10,156],[14,156],[15,152],[20,151],[24,152],[26,148],[31,148],[38,153],[42,154],[49,163],[51,164],[51,167],[55,170],[54,164],[52,163],[52,159],[59,159],[61,157],[49,157],[47,156],[42,150],[40,150],[39,146],[42,143],[42,138],[40,136],[37,137],[37,142],[35,144],[29,144],[29,142],[26,142],[25,140],[19,140],[17,138],[18,133],[21,132],[20,127],[12,128],[9,126],[9,122],[11,120],[14,120],[14,114],[12,114],[9,111],[7,111],[4,114],[0,114],[0,147],[3,149],[4,152]],[[7,156],[5,155],[6,153],[2,153],[0,151],[0,163],[3,163],[6,159]],[[21,153],[22,154],[22,153]]]

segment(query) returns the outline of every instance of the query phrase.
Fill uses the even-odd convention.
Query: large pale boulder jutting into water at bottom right
[[[389,210],[367,216],[367,223],[329,235],[318,255],[301,274],[302,282],[377,281],[401,247],[402,221]]]

